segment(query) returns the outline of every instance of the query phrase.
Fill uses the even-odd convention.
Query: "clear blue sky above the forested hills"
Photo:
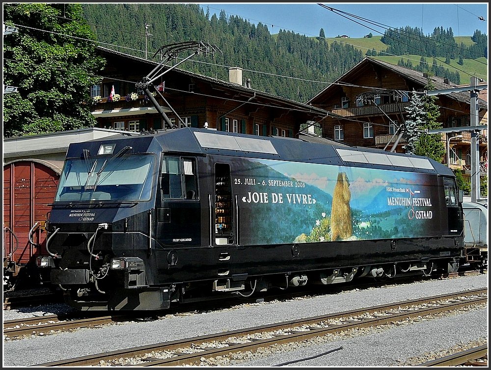
[[[488,3],[487,2],[455,2],[455,3],[322,3],[330,8],[350,13],[367,19],[373,23],[361,21],[344,14],[347,19],[328,10],[317,3],[199,3],[210,15],[217,16],[225,10],[227,16],[236,15],[250,23],[259,22],[268,26],[270,33],[278,33],[280,29],[290,30],[306,36],[319,36],[324,28],[326,37],[348,35],[352,38],[363,37],[372,32],[381,35],[385,28],[404,26],[418,27],[423,33],[432,33],[435,27],[444,29],[452,27],[454,36],[472,36],[476,29],[488,34]],[[484,17],[481,21],[478,17]],[[362,25],[356,24],[353,20]],[[370,29],[370,28],[372,29]]]

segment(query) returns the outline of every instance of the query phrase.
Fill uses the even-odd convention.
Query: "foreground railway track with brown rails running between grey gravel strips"
[[[231,356],[236,352],[255,351],[259,347],[299,342],[340,331],[378,326],[409,320],[412,317],[436,315],[472,305],[487,304],[487,292],[487,289],[477,289],[442,294],[360,310],[93,354],[36,366],[200,365],[211,357]]]

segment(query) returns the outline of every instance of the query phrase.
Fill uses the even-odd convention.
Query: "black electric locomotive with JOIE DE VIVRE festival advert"
[[[457,271],[455,175],[420,156],[181,128],[70,144],[46,223],[80,310]]]

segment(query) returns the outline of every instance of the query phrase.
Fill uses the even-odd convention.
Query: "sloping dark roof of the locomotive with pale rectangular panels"
[[[233,157],[281,159],[296,162],[323,163],[367,168],[398,169],[410,172],[439,173],[454,176],[451,169],[421,156],[390,153],[366,147],[348,147],[305,142],[296,138],[256,136],[209,129],[182,128],[154,134],[113,135],[99,140],[70,145],[67,157],[79,157],[84,144],[123,140],[118,147],[131,145],[135,152],[155,151],[156,144],[169,154],[224,155]],[[157,142],[155,142],[155,141]],[[75,147],[78,147],[76,149]],[[121,148],[116,148],[115,153]],[[93,151],[98,149],[94,147]],[[160,148],[158,149],[161,150]]]

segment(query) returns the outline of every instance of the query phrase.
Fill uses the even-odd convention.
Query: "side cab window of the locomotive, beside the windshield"
[[[164,199],[197,199],[195,161],[191,158],[164,157],[161,188]]]

